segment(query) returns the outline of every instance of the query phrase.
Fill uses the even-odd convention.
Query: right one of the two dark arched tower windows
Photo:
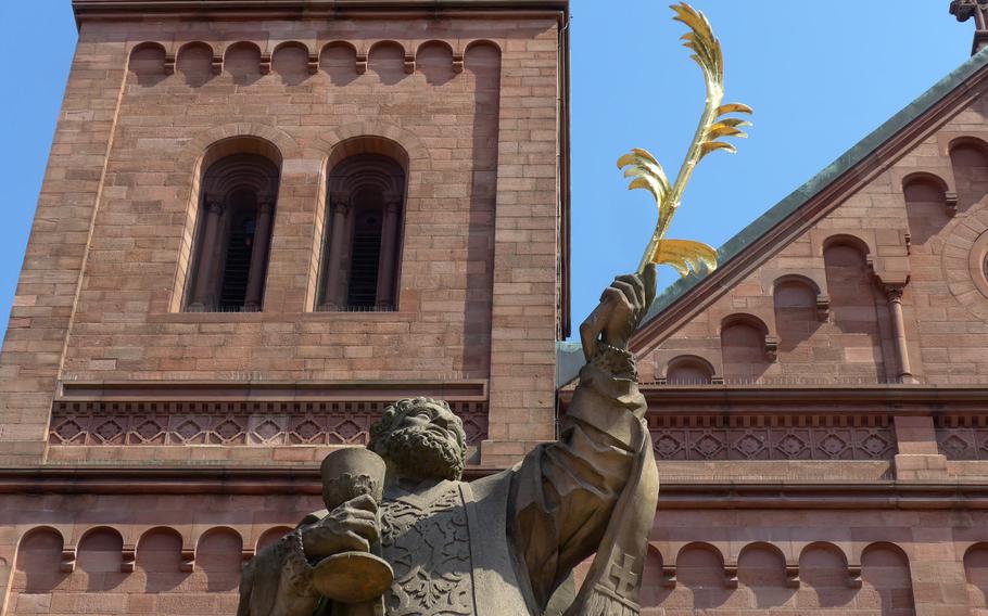
[[[321,310],[394,310],[405,203],[405,169],[365,152],[334,165],[322,259]]]

